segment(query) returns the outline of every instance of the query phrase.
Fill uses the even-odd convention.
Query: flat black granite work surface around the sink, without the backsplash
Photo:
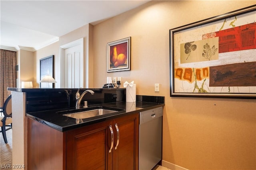
[[[115,109],[122,109],[122,111],[108,113],[105,115],[98,115],[98,116],[90,117],[86,119],[80,119],[79,122],[75,118],[67,117],[65,115],[62,115],[61,113],[58,113],[60,111],[75,109],[74,107],[31,112],[31,113],[26,113],[26,116],[36,121],[39,121],[40,123],[48,125],[49,127],[52,127],[58,131],[64,132],[71,129],[76,129],[78,127],[83,127],[86,125],[102,122],[108,119],[120,117],[125,114],[138,113],[140,111],[161,107],[161,106],[164,106],[164,104],[154,103],[154,102],[134,102],[134,103],[113,102],[113,103],[106,103],[106,104],[100,104],[100,105],[91,105],[91,106],[88,106],[88,108],[97,107],[97,106],[112,107]]]

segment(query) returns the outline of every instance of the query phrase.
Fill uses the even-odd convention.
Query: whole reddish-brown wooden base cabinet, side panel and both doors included
[[[139,114],[60,132],[28,119],[28,169],[138,170]]]

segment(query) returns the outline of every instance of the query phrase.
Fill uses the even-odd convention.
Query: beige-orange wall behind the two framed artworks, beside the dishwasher
[[[154,1],[94,26],[94,87],[134,80],[165,96],[163,160],[191,170],[256,169],[256,100],[170,97],[169,29],[256,1]],[[131,71],[107,73],[106,44],[131,37]],[[160,83],[160,92],[154,84]]]

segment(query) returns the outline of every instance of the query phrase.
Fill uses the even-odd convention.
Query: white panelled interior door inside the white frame
[[[64,88],[83,87],[83,55],[81,45],[64,49]]]

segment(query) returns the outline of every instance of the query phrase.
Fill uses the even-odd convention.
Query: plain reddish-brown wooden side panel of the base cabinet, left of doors
[[[66,133],[28,118],[28,170],[66,170]]]

